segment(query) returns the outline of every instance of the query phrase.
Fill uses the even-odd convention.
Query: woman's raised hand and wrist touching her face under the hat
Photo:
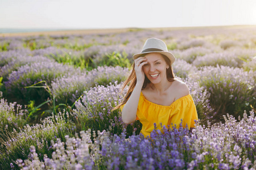
[[[142,66],[145,65],[147,63],[147,58],[146,57],[139,57],[137,59],[134,59],[134,70],[136,73],[136,77],[137,77],[137,83],[144,83],[144,79],[145,79],[145,74],[142,70]]]

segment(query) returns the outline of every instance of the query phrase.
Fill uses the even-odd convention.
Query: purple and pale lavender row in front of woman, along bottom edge
[[[239,122],[228,115],[225,124],[198,125],[192,133],[163,127],[150,138],[132,135],[129,140],[125,133],[112,137],[98,131],[92,141],[90,130],[81,131],[81,138],[52,143],[52,158],[40,161],[31,146],[30,159],[16,164],[23,169],[255,169],[255,122],[252,111]]]

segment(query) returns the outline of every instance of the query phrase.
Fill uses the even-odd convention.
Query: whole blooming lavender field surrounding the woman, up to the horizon
[[[166,42],[200,121],[150,138],[112,111],[146,39]],[[256,169],[256,27],[0,37],[2,169]]]

